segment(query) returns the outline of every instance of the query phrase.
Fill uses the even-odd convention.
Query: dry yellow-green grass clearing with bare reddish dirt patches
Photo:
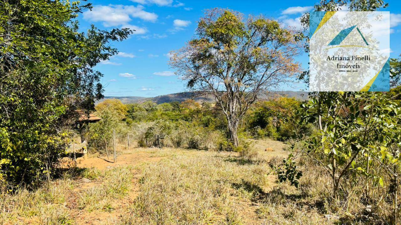
[[[277,182],[271,165],[286,157],[285,144],[258,140],[254,147],[253,158],[174,148],[121,150],[115,164],[79,158],[78,168],[38,190],[4,194],[0,224],[334,222],[316,196],[301,201],[302,189]]]

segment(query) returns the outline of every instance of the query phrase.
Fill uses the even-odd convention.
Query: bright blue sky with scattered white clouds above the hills
[[[302,12],[317,0],[304,1],[219,1],[219,0],[89,0],[92,11],[79,16],[81,29],[95,24],[103,30],[130,27],[137,30],[129,39],[112,43],[120,52],[96,69],[104,74],[106,96],[154,97],[185,91],[183,83],[168,66],[169,51],[184,46],[194,36],[205,9],[229,8],[245,15],[263,14],[286,26],[300,26]],[[401,53],[401,1],[386,1],[390,11],[390,57]],[[297,58],[308,67],[308,55]],[[306,89],[302,83],[283,85],[282,90]]]

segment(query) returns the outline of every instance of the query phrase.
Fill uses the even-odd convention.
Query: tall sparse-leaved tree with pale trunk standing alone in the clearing
[[[172,52],[170,65],[190,89],[214,95],[236,147],[241,117],[259,93],[300,72],[294,57],[301,49],[296,32],[275,20],[216,8],[200,19],[195,38]]]

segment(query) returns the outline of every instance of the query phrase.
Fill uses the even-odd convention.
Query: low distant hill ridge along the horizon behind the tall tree
[[[259,99],[271,99],[277,97],[295,97],[299,100],[306,100],[308,99],[308,92],[306,91],[273,91],[267,94],[263,93],[259,96]],[[115,97],[115,96],[105,96],[103,99],[99,100],[96,103],[103,101],[104,99],[111,99],[116,98],[119,99],[124,104],[129,103],[141,103],[144,101],[153,101],[157,104],[165,103],[165,102],[172,102],[172,101],[185,101],[187,99],[194,99],[195,101],[202,102],[202,101],[215,101],[215,98],[212,95],[203,95],[198,96],[197,92],[180,92],[180,93],[173,93],[168,95],[159,95],[156,97],[137,97],[137,96],[122,96],[122,97]]]

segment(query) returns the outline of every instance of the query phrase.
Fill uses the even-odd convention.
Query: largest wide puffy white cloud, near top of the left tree
[[[92,10],[83,12],[85,20],[103,22],[103,26],[118,26],[130,22],[132,18],[155,22],[157,14],[144,11],[143,6],[108,5],[93,6]]]

